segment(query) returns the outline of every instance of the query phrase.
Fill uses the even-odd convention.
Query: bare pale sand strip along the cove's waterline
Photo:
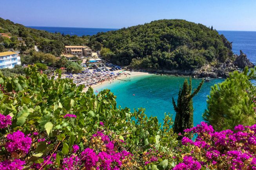
[[[116,70],[116,71],[113,71],[113,72],[116,74],[116,73],[118,73],[118,72],[120,72],[120,71],[124,71],[124,70]],[[115,78],[114,80],[112,80],[112,81],[104,81],[104,82],[102,82],[102,83],[93,84],[93,85],[91,86],[91,88],[93,88],[93,89],[96,89],[96,88],[98,88],[98,87],[104,88],[105,85],[111,84],[111,83],[113,83],[113,82],[115,82],[115,81],[118,81],[118,79],[127,79],[127,78],[129,78],[129,77],[131,77],[130,79],[132,79],[133,76],[135,76],[135,75],[147,75],[147,74],[149,74],[149,73],[146,73],[146,72],[134,72],[134,71],[125,71],[125,73],[126,73],[126,75],[125,75],[125,74],[122,74],[122,75],[116,77],[116,78]],[[84,88],[83,91],[84,91],[84,92],[87,91],[88,88],[89,88],[89,87]]]

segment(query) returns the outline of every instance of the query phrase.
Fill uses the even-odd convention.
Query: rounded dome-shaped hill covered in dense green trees
[[[91,47],[110,48],[113,63],[137,68],[194,69],[233,55],[232,44],[216,30],[185,20],[158,20],[99,33]]]

